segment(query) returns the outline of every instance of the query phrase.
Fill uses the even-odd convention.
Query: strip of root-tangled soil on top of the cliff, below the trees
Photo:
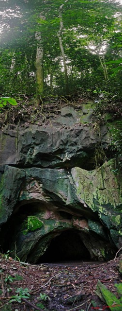
[[[47,97],[44,99],[44,102],[38,106],[33,98],[28,98],[23,95],[20,100],[17,100],[17,105],[12,106],[7,104],[4,108],[0,108],[0,128],[4,126],[9,126],[14,128],[15,125],[22,125],[28,127],[30,124],[36,124],[38,126],[47,126],[53,125],[53,119],[61,115],[61,109],[63,107],[73,107],[74,109],[81,109],[82,104],[94,103],[95,97],[88,96],[88,94],[80,94],[80,96],[54,96]],[[94,109],[92,113],[92,123],[91,126],[94,126],[94,122],[99,124],[104,124],[104,114],[105,112],[111,112],[113,117],[117,118],[118,116],[122,117],[122,103],[116,101],[113,102],[103,102],[99,112],[101,117],[98,117],[98,110]],[[64,126],[66,127],[66,126]]]

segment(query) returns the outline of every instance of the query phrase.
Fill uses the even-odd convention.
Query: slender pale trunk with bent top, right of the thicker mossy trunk
[[[68,2],[68,0],[65,0],[65,1],[64,1],[64,4],[65,4],[66,2]],[[65,59],[63,44],[62,44],[62,31],[63,31],[62,8],[63,8],[64,4],[62,4],[62,5],[60,6],[60,8],[59,8],[60,30],[59,30],[59,33],[58,33],[58,37],[59,37],[59,43],[60,43],[60,49],[61,49],[63,67],[64,67],[66,93],[68,94],[68,92],[69,92],[69,87],[68,87],[67,65],[66,65],[66,59]]]

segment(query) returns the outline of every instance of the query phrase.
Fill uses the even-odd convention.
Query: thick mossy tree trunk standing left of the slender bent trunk
[[[46,17],[43,16],[43,12],[39,16],[41,19],[45,20]],[[44,47],[42,43],[41,33],[36,32],[35,38],[37,40],[37,50],[36,50],[36,59],[35,59],[35,68],[36,68],[36,82],[37,82],[37,98],[38,104],[42,103],[42,94],[44,91]]]

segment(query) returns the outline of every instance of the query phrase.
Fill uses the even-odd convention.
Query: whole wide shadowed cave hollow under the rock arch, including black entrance
[[[60,225],[58,227],[55,227],[54,224],[53,227],[51,227],[51,217],[49,220],[44,217],[46,212],[47,216],[53,216],[52,219],[56,221],[60,220],[62,224],[59,222]],[[52,214],[49,214],[50,212]],[[44,219],[44,226],[41,229],[42,232],[44,230],[43,234],[40,232],[38,236],[39,231],[36,233],[36,231],[30,228],[28,229],[28,217],[30,216],[39,217],[42,220]],[[30,202],[30,204],[16,207],[9,221],[1,228],[1,252],[6,253],[10,250],[11,256],[15,258],[16,249],[16,254],[20,260],[39,264],[75,260],[99,260],[99,250],[104,248],[107,253],[106,258],[112,259],[114,256],[114,249],[110,246],[110,243],[107,240],[105,240],[104,243],[104,238],[100,237],[95,232],[90,231],[86,233],[82,228],[80,230],[77,229],[75,225],[73,227],[72,217],[74,216],[65,210],[57,208],[57,210],[53,211],[50,210],[45,203],[40,202]],[[80,220],[85,221],[86,218],[81,215]],[[65,222],[68,223],[69,228],[63,226]],[[48,225],[50,230],[47,230]],[[33,239],[34,235],[35,238]],[[37,240],[36,237],[38,237]],[[35,242],[32,245],[31,240]],[[30,248],[28,248],[29,243],[31,245]],[[21,252],[22,245],[25,253]],[[27,249],[25,245],[27,245]],[[87,245],[88,248],[85,245]],[[96,250],[95,256],[94,253],[92,253],[92,248]],[[41,254],[43,255],[41,256]]]

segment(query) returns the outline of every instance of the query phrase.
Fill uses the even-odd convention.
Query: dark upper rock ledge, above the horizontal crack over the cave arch
[[[101,131],[105,150],[109,139],[107,127],[103,126]],[[76,124],[68,128],[31,125],[14,130],[8,125],[0,133],[0,164],[41,168],[72,168],[75,165],[91,169],[94,150],[99,144],[101,137],[88,125]]]

